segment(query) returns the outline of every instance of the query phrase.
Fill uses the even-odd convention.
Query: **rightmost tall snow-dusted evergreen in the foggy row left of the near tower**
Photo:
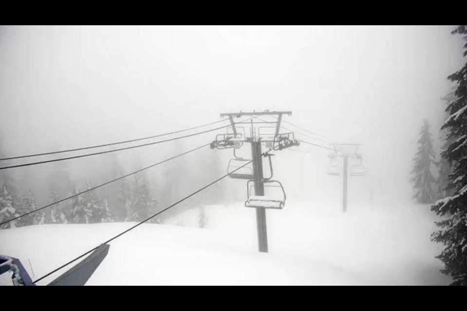
[[[128,220],[140,222],[149,218],[156,213],[156,205],[157,200],[151,195],[151,186],[146,174],[144,172],[137,173]],[[153,218],[152,222],[160,223],[160,220]]]

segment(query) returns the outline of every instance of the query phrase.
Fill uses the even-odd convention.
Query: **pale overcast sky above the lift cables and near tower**
[[[437,137],[446,77],[465,61],[453,28],[0,26],[0,142],[20,155],[291,110],[364,144],[368,184],[408,198],[422,119]]]

